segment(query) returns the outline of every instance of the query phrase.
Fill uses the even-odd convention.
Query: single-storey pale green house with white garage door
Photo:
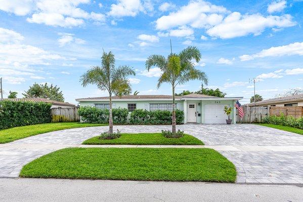
[[[176,109],[184,111],[184,123],[222,124],[226,123],[224,106],[233,107],[243,97],[215,97],[202,94],[175,96]],[[109,109],[109,97],[88,97],[76,99],[80,106],[92,106]],[[124,95],[112,96],[113,108],[126,108],[129,112],[135,109],[172,110],[171,95]],[[231,118],[236,120],[236,109],[233,107]],[[234,122],[235,123],[235,122]]]

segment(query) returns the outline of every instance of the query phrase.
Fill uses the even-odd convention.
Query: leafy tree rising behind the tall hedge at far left
[[[25,91],[25,93],[22,94],[24,97],[41,97],[64,102],[63,93],[60,91],[60,88],[53,84],[49,86],[48,83],[34,83],[32,86],[29,86],[29,89]]]

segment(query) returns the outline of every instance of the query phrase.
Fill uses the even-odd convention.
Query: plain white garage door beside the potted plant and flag
[[[206,124],[226,124],[227,115],[224,114],[225,105],[205,105]]]

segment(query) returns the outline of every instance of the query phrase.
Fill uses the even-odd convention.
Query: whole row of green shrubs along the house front
[[[128,110],[124,108],[112,109],[114,124],[146,124],[146,125],[166,125],[171,124],[170,111],[147,111],[142,109],[134,110],[130,118],[128,117]],[[108,109],[98,109],[95,107],[85,106],[80,107],[78,114],[81,120],[85,123],[102,123],[107,124],[109,119]],[[184,113],[181,110],[176,110],[177,124],[183,124]]]

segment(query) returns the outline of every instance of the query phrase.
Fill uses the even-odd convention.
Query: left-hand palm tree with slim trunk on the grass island
[[[131,91],[131,84],[127,76],[136,75],[136,72],[129,66],[115,67],[115,57],[112,52],[105,53],[101,57],[101,66],[93,66],[84,73],[80,82],[85,87],[88,84],[95,84],[100,90],[107,90],[109,94],[109,133],[113,133],[112,117],[112,93]],[[123,93],[122,93],[123,94]]]

